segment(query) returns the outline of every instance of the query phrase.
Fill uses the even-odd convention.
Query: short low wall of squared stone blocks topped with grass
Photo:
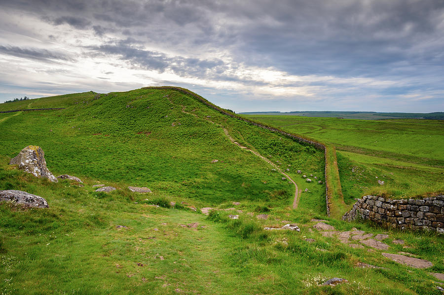
[[[444,233],[444,196],[392,200],[365,196],[342,220],[369,219],[390,228],[426,229]]]

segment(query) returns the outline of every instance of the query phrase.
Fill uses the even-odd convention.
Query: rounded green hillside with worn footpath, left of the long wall
[[[325,214],[325,187],[307,184],[295,173],[300,169],[323,179],[322,152],[223,116],[184,94],[140,89],[39,100],[45,101],[39,107],[67,108],[0,114],[0,120],[6,120],[0,123],[0,154],[14,157],[29,144],[39,145],[57,175],[148,186],[203,207],[246,199],[291,205],[294,186],[272,166],[233,145],[223,126],[239,143],[289,168],[296,183],[316,196],[301,199],[301,206]],[[11,109],[15,104],[6,103]],[[211,163],[215,159],[219,162]]]

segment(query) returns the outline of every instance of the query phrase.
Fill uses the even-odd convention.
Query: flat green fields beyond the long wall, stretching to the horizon
[[[365,194],[414,197],[444,189],[443,121],[247,117],[333,143],[349,204]]]

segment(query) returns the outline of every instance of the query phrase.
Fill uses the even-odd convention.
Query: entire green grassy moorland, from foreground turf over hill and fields
[[[49,208],[0,203],[0,294],[440,294],[430,273],[444,272],[441,236],[327,216],[323,150],[168,88],[0,104],[0,111],[33,108],[64,109],[0,113],[0,189],[44,197]],[[316,137],[306,131],[309,126],[296,132],[265,123],[336,146],[348,205],[362,192],[413,196],[436,193],[442,185],[439,151],[357,145],[353,135],[342,141]],[[410,128],[418,133],[419,126]],[[436,136],[430,143],[438,147],[439,130],[429,128],[420,131],[430,134],[415,138]],[[84,183],[52,183],[8,165],[31,144],[43,149],[54,175],[74,175]],[[297,170],[322,183],[308,183]],[[413,172],[419,180],[411,178]],[[372,176],[387,185],[376,186]],[[96,184],[117,190],[96,192]],[[153,193],[136,194],[128,186]],[[207,216],[203,207],[215,209]],[[433,266],[413,268],[379,250],[350,247],[313,229],[313,219],[336,230],[386,232],[386,252],[408,252]],[[300,232],[263,229],[285,223],[297,224]],[[400,239],[405,244],[393,242]],[[333,277],[348,282],[321,285]]]

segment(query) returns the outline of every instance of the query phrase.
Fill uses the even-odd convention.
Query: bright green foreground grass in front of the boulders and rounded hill
[[[435,264],[418,270],[306,227],[301,232],[264,231],[265,225],[281,223],[259,221],[246,211],[231,220],[228,211],[206,217],[188,209],[157,208],[149,206],[145,195],[127,190],[97,194],[91,188],[94,181],[84,187],[50,183],[11,169],[5,158],[0,164],[1,187],[45,196],[50,204],[48,209],[20,209],[0,203],[2,294],[437,294],[427,271],[444,271],[436,255],[444,249],[443,240],[434,235],[390,231],[413,247],[408,251]],[[299,225],[313,224],[309,220],[316,217],[309,211],[285,212],[272,216]],[[383,230],[330,223],[341,230]],[[306,237],[316,242],[310,244]],[[406,251],[392,247],[395,253]],[[388,269],[356,268],[357,262]],[[349,283],[317,286],[331,277]]]

